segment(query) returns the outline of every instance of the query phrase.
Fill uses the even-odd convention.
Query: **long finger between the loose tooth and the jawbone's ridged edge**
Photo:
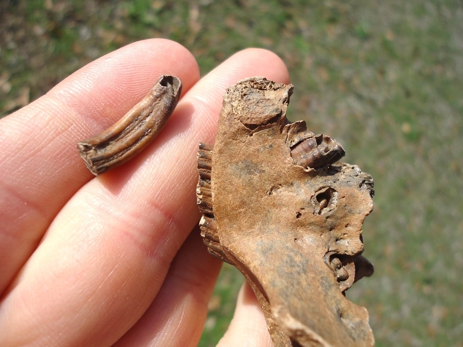
[[[138,321],[199,219],[197,143],[212,143],[225,88],[254,75],[288,80],[273,53],[237,53],[190,89],[159,141],[66,204],[0,306],[0,345],[105,346]]]

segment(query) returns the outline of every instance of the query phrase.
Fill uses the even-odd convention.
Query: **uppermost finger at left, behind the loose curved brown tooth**
[[[178,43],[136,42],[0,121],[0,293],[65,202],[93,177],[77,142],[116,122],[162,74],[180,77],[184,90],[199,78],[196,61]]]

